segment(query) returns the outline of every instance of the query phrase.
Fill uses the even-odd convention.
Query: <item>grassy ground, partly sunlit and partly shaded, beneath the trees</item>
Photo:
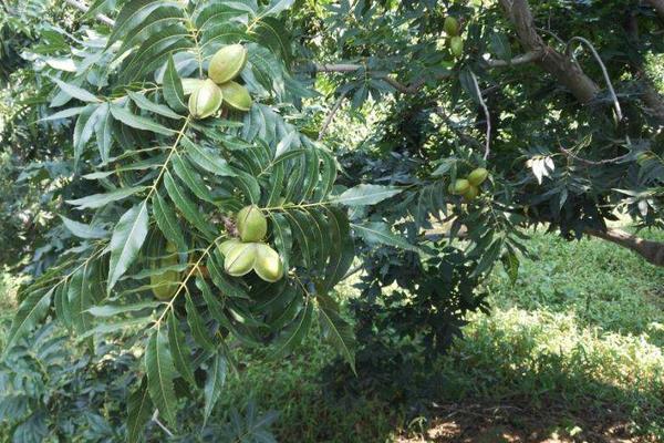
[[[330,395],[334,353],[313,338],[286,361],[243,356],[226,401],[280,411],[280,442],[664,442],[664,269],[594,239],[529,246],[516,284],[494,271],[491,315],[437,363],[434,401]]]

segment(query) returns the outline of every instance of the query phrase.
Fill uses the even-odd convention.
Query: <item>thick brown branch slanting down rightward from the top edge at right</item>
[[[500,0],[507,17],[513,23],[521,47],[528,52],[541,53],[536,60],[581,103],[590,103],[600,92],[598,84],[569,56],[549,47],[538,34],[527,0]]]

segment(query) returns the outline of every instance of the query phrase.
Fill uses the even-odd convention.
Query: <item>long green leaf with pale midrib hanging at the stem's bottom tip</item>
[[[159,415],[175,427],[176,404],[173,380],[176,377],[173,357],[168,349],[168,340],[159,330],[155,329],[147,341],[145,350],[145,370],[147,373],[147,389]]]

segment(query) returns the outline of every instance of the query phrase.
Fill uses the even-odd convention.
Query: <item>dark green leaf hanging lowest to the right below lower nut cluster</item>
[[[318,295],[319,319],[323,337],[342,353],[355,372],[355,333],[353,328],[339,315],[339,306],[326,295]],[[356,372],[355,372],[356,374]]]

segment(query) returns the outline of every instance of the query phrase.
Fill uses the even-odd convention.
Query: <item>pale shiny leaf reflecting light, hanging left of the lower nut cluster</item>
[[[111,261],[108,264],[110,292],[115,282],[129,268],[138,256],[147,236],[147,205],[145,200],[127,210],[117,222],[111,237]]]

